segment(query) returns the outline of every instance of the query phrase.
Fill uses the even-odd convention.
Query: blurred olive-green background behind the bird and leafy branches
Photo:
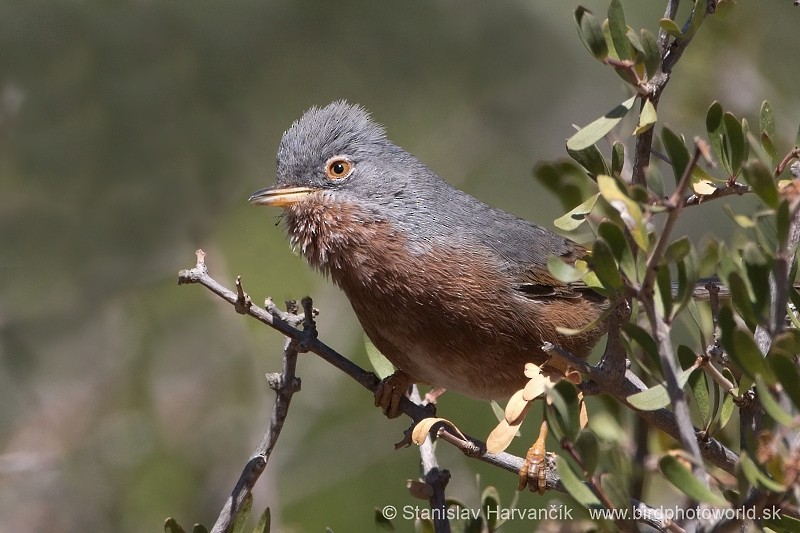
[[[282,338],[177,286],[196,248],[257,302],[312,295],[321,338],[368,365],[343,295],[290,252],[277,211],[246,202],[274,181],[281,133],[309,106],[359,102],[451,183],[550,225],[561,209],[531,167],[565,155],[571,124],[627,98],[582,48],[576,5],[1,1],[0,531],[213,523],[266,427],[263,374],[279,369]],[[625,8],[655,31],[663,3]],[[789,0],[710,18],[659,118],[691,138],[713,99],[752,118],[766,98],[785,149],[800,118],[799,22]],[[718,203],[679,232],[730,232]],[[274,530],[371,530],[375,507],[424,506],[405,488],[417,451],[392,448],[407,421],[384,419],[313,355],[298,374],[255,492]],[[494,426],[486,404],[451,394],[440,405],[475,435]],[[524,453],[529,426],[510,451]],[[513,476],[447,446],[439,458],[451,496],[477,505],[476,475],[504,503],[513,494]]]

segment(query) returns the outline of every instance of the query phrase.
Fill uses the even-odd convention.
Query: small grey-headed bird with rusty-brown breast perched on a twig
[[[608,307],[547,269],[583,247],[452,187],[360,106],[306,111],[281,139],[277,184],[250,202],[284,209],[292,247],[344,291],[396,367],[376,393],[389,416],[410,383],[508,398],[526,363],[548,363],[545,342],[585,358],[603,333],[558,331]]]

